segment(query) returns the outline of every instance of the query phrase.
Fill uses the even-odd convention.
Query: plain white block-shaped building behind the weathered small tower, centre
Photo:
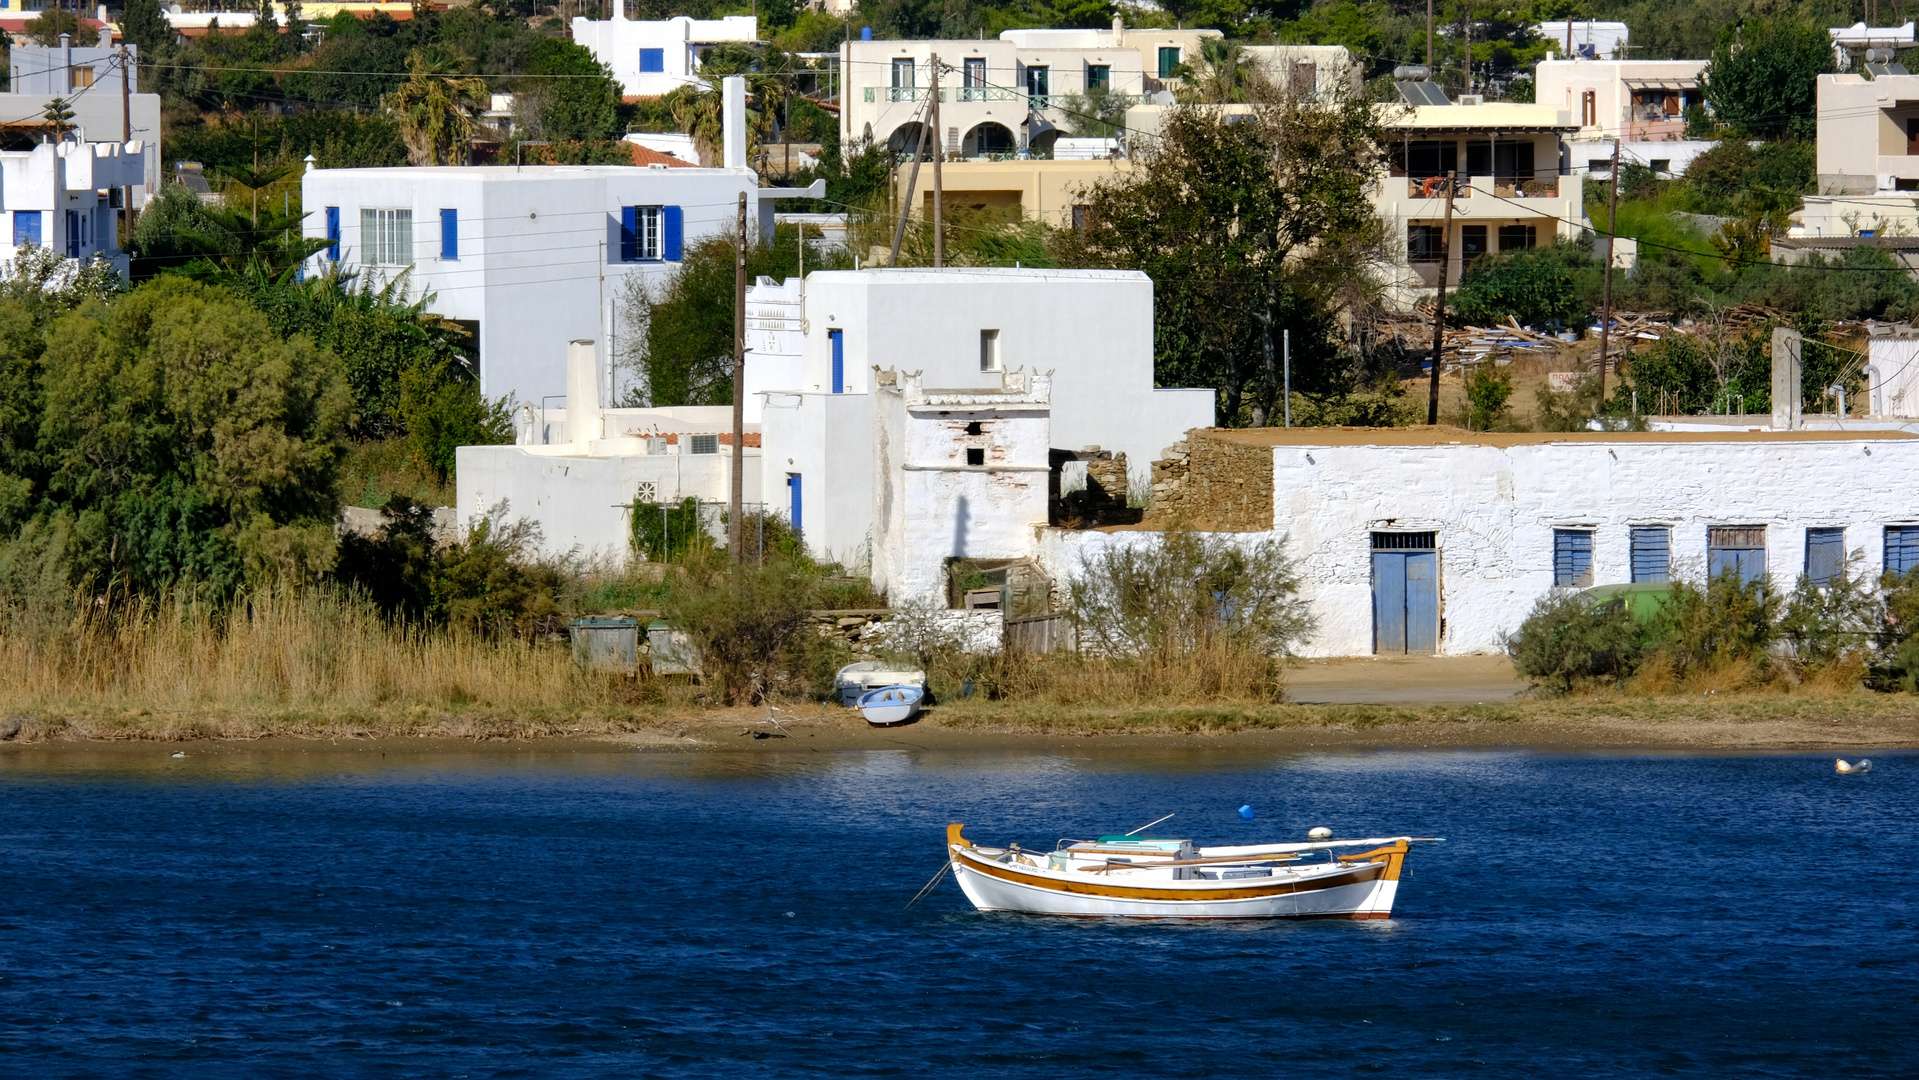
[[[1153,387],[1153,282],[1136,270],[817,272],[804,288],[748,290],[746,311],[746,391],[768,447],[760,487],[777,499],[785,485],[808,545],[835,558],[871,541],[864,470],[881,368],[940,391],[1046,374],[1050,445],[1125,453],[1142,483],[1182,432],[1213,422],[1211,389]]]

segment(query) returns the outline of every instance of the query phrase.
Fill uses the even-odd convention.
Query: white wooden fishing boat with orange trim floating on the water
[[[1414,840],[1196,848],[1102,836],[1052,852],[983,848],[946,827],[954,879],[981,911],[1121,919],[1389,919]],[[1345,848],[1362,852],[1339,854]]]

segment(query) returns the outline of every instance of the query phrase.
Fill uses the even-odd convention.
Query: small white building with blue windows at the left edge
[[[21,247],[52,247],[69,259],[104,255],[121,274],[123,192],[140,182],[144,146],[129,142],[42,142],[0,150],[0,259]]]

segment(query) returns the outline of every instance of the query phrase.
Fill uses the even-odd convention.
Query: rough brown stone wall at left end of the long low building
[[[1194,428],[1153,462],[1149,526],[1184,524],[1207,531],[1272,528],[1272,447]]]

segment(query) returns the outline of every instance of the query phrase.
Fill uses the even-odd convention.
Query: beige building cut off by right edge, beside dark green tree
[[[1919,192],[1919,75],[1869,63],[1817,88],[1819,194]]]

